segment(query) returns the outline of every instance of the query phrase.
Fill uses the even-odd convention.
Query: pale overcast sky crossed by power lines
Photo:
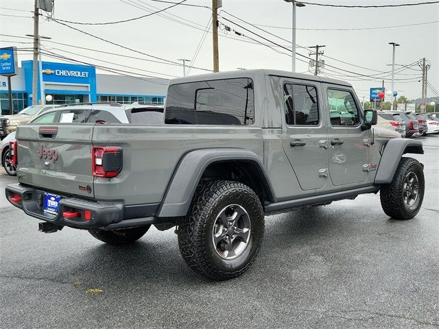
[[[171,0],[176,1],[177,0]],[[427,1],[427,0],[426,0]],[[219,21],[228,25],[244,36],[237,36],[232,32],[219,32],[219,69],[220,71],[235,70],[238,67],[246,69],[281,69],[291,70],[291,57],[285,55],[287,50],[276,47],[251,32],[256,32],[269,40],[272,40],[284,47],[291,47],[292,38],[292,4],[283,0],[223,0]],[[309,0],[315,3],[332,3],[332,4],[355,4],[355,5],[383,5],[397,3],[417,3],[423,0]],[[211,5],[210,0],[187,0],[186,3],[196,5]],[[0,12],[2,15],[31,16],[34,0],[0,0]],[[158,3],[152,0],[87,0],[71,1],[56,0],[54,18],[64,19],[75,22],[110,22],[147,14],[151,11],[166,8],[170,4]],[[6,10],[12,8],[14,10]],[[27,10],[29,13],[18,10]],[[238,19],[230,16],[228,13],[237,16],[239,19],[252,25],[258,25],[261,29],[275,34],[285,40],[266,34],[252,25],[243,23]],[[82,29],[85,32],[105,38],[119,45],[124,45],[136,49],[152,56],[164,58],[166,60],[177,61],[180,58],[192,59],[197,49],[204,29],[211,19],[211,10],[208,8],[195,8],[184,5],[177,5],[174,8],[158,14],[116,25],[74,25],[71,26]],[[173,16],[174,15],[174,16]],[[222,18],[222,17],[223,18]],[[233,23],[226,21],[230,19],[241,25],[238,27]],[[12,34],[14,36],[25,36],[33,33],[33,21],[29,18],[0,16],[0,33]],[[439,90],[439,23],[427,25],[416,25],[410,27],[395,27],[386,29],[362,29],[370,27],[390,27],[394,25],[407,25],[417,23],[427,23],[439,21],[439,3],[431,5],[418,5],[401,8],[329,8],[317,5],[306,5],[303,8],[297,8],[297,44],[302,47],[312,45],[326,45],[324,47],[324,56],[322,59],[331,66],[327,66],[323,74],[342,80],[350,81],[359,98],[368,99],[368,89],[381,86],[381,77],[385,75],[390,79],[392,62],[392,47],[388,42],[398,42],[401,46],[396,48],[396,64],[412,64],[423,57],[431,63],[431,69],[428,72],[428,80],[436,90]],[[263,27],[260,25],[269,25],[275,27]],[[251,32],[246,31],[249,29]],[[306,30],[306,29],[324,29],[324,30]],[[357,29],[351,31],[328,31],[327,29]],[[360,30],[358,30],[360,29]],[[86,36],[80,32],[69,29],[69,27],[59,25],[54,21],[43,20],[40,23],[40,34],[50,36],[55,42],[62,42],[69,45],[80,46],[89,49],[107,51],[99,53],[74,47],[56,45],[43,41],[45,49],[54,53],[62,54],[75,60],[89,62],[108,66],[113,69],[122,69],[129,72],[138,72],[145,75],[160,77],[181,76],[182,68],[174,65],[159,64],[145,60],[136,60],[132,58],[123,58],[114,54],[125,56],[134,56],[145,59],[154,59],[140,53],[135,53],[127,49],[122,49],[107,42],[97,40],[91,36]],[[264,42],[274,47],[278,53],[269,47],[265,47],[258,42],[249,38],[254,38],[259,42]],[[30,44],[17,43],[28,42],[29,40],[0,36],[1,47],[15,45],[16,47],[32,47]],[[60,50],[61,49],[61,50]],[[65,51],[70,51],[67,53]],[[299,53],[308,56],[308,49],[297,48]],[[75,55],[73,53],[77,53]],[[291,52],[289,52],[291,54]],[[88,56],[84,58],[81,56]],[[329,57],[327,57],[329,56]],[[19,60],[28,60],[32,54],[20,52]],[[91,59],[95,58],[95,59]],[[306,60],[305,58],[303,58]],[[43,56],[43,60],[60,61]],[[107,62],[100,62],[104,60]],[[345,64],[337,60],[349,63]],[[108,63],[111,62],[112,64]],[[191,62],[194,66],[212,69],[212,35],[209,33],[202,43],[202,48],[195,61]],[[353,65],[356,66],[353,66]],[[132,66],[129,69],[121,65]],[[363,68],[357,67],[362,66]],[[402,66],[396,66],[401,70]],[[147,73],[145,71],[155,73]],[[340,71],[344,69],[346,71]],[[372,71],[376,70],[376,71]],[[418,66],[411,69],[405,69],[395,75],[395,89],[399,95],[405,95],[409,99],[420,97],[421,84],[420,70]],[[308,64],[296,61],[296,71],[308,71]],[[335,72],[334,72],[335,71]],[[381,72],[381,73],[380,73]],[[205,73],[196,69],[191,69],[190,75]],[[356,73],[356,74],[355,74]],[[370,77],[359,77],[357,73],[363,75],[373,75],[373,80],[367,81]],[[129,73],[131,74],[131,73]],[[170,75],[170,76],[168,76]],[[355,77],[348,77],[353,75]],[[407,83],[407,79],[409,82]],[[359,80],[359,81],[351,81]],[[410,82],[411,81],[411,82]],[[385,81],[385,87],[390,89],[390,80]],[[428,90],[427,96],[434,94]]]

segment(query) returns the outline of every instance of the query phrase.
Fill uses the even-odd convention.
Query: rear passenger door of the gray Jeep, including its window
[[[328,150],[321,143],[327,139],[327,129],[320,83],[285,80],[282,88],[285,154],[302,190],[323,188],[327,182]]]

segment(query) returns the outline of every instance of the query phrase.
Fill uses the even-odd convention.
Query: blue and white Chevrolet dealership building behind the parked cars
[[[47,104],[84,102],[139,103],[163,105],[169,80],[150,77],[97,74],[95,66],[43,62],[44,96]],[[32,60],[21,62],[18,74],[11,78],[14,113],[32,105]],[[40,103],[38,79],[38,103]],[[8,102],[8,79],[0,76],[1,114],[11,114]]]

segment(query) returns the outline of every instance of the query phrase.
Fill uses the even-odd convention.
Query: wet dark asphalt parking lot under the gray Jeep
[[[228,282],[191,271],[173,230],[125,247],[43,234],[1,192],[1,327],[438,328],[439,135],[418,139],[418,216],[394,221],[379,195],[361,195],[266,217],[257,261]],[[1,191],[10,182],[1,171]]]

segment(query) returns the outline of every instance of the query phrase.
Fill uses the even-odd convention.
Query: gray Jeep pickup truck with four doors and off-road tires
[[[6,197],[43,232],[112,245],[176,226],[191,269],[234,278],[256,258],[264,215],[380,192],[394,219],[424,196],[418,141],[373,127],[346,82],[248,70],[172,80],[160,125],[19,126]],[[365,210],[366,211],[366,210]]]

